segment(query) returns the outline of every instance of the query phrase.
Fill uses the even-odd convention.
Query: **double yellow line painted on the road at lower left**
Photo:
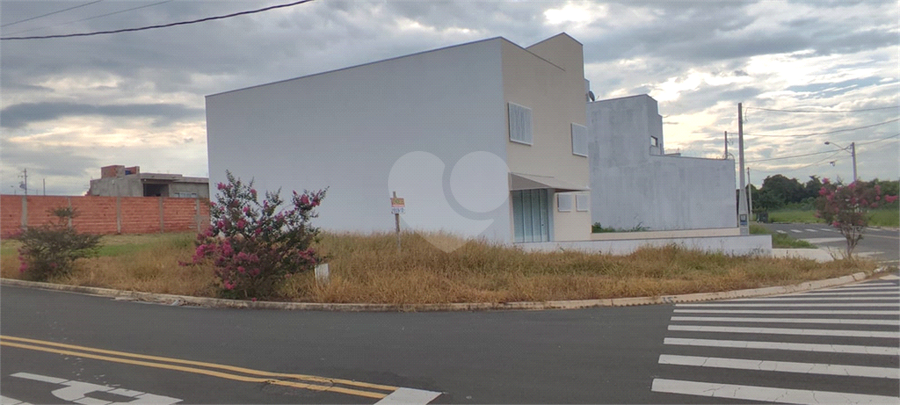
[[[247,368],[242,368],[242,367],[225,366],[225,365],[221,365],[221,364],[195,362],[195,361],[190,361],[190,360],[172,359],[172,358],[158,357],[158,356],[146,356],[146,355],[141,355],[141,354],[116,352],[116,351],[112,351],[112,350],[93,349],[93,348],[87,348],[87,347],[83,347],[83,346],[66,345],[66,344],[54,343],[54,342],[43,342],[40,340],[16,338],[16,337],[11,337],[11,336],[0,336],[0,339],[33,342],[33,343],[45,344],[48,346],[67,347],[67,348],[79,349],[79,350],[84,350],[84,351],[116,354],[116,355],[122,355],[122,356],[127,356],[127,357],[135,357],[135,358],[143,358],[143,359],[151,359],[151,360],[162,360],[162,361],[168,361],[171,363],[200,365],[200,366],[205,366],[205,367],[210,367],[210,368],[220,368],[220,369],[225,369],[225,370],[230,370],[230,371],[242,372],[245,374],[306,379],[308,381],[316,381],[316,382],[321,382],[321,383],[340,383],[340,384],[344,384],[344,385],[356,385],[356,386],[360,386],[360,387],[365,386],[368,388],[377,388],[377,389],[383,389],[383,390],[388,390],[388,391],[394,391],[397,389],[396,387],[390,387],[387,385],[360,383],[360,382],[351,381],[351,380],[328,379],[328,378],[324,378],[324,377],[308,376],[308,375],[302,375],[302,374],[268,373],[265,371],[252,370],[252,369],[247,369]],[[167,369],[167,370],[183,371],[183,372],[187,372],[187,373],[203,374],[203,375],[208,375],[208,376],[212,376],[212,377],[219,377],[219,378],[235,380],[235,381],[263,382],[263,383],[281,385],[281,386],[286,386],[286,387],[308,389],[308,390],[313,390],[313,391],[337,392],[337,393],[342,393],[342,394],[356,395],[356,396],[362,396],[362,397],[367,397],[367,398],[376,398],[376,399],[384,398],[387,396],[386,393],[381,393],[381,392],[370,392],[370,391],[362,391],[362,390],[352,389],[352,388],[317,385],[317,384],[307,384],[307,383],[293,382],[293,381],[283,381],[283,380],[277,380],[277,379],[272,379],[272,378],[247,377],[247,376],[229,374],[229,373],[213,371],[213,370],[204,370],[204,369],[200,369],[200,368],[184,367],[184,366],[177,366],[177,365],[172,365],[172,364],[153,363],[153,362],[148,362],[148,361],[131,360],[131,359],[119,358],[119,357],[102,356],[102,355],[85,353],[85,352],[75,351],[75,350],[54,349],[54,348],[50,348],[50,347],[41,347],[41,346],[34,346],[34,345],[28,345],[28,344],[22,344],[22,343],[0,341],[0,346],[18,347],[21,349],[36,350],[36,351],[43,351],[43,352],[56,353],[56,354],[65,354],[65,355],[70,355],[70,356],[78,356],[78,357],[84,357],[84,358],[90,358],[90,359],[105,360],[105,361],[111,361],[111,362],[116,362],[116,363],[125,363],[125,364],[132,364],[132,365],[138,365],[138,366],[144,366],[144,367],[153,367],[153,368],[161,368],[161,369]]]

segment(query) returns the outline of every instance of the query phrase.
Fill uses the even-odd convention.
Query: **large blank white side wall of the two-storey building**
[[[508,200],[472,212],[458,199],[471,207],[482,196],[455,196],[450,186],[456,163],[469,153],[506,159],[500,43],[208,96],[210,185],[230,170],[282,195],[327,187],[314,224],[356,232],[393,231],[388,197],[396,191],[406,202],[404,229],[510,241]],[[484,176],[507,181],[505,171]]]

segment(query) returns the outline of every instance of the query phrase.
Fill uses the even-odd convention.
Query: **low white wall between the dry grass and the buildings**
[[[723,253],[732,256],[772,256],[770,235],[717,236],[705,238],[628,239],[581,242],[543,242],[520,244],[528,252],[583,251],[612,255],[627,255],[642,247],[676,245],[690,250]]]

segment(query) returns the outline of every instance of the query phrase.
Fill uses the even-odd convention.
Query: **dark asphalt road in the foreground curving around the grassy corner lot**
[[[683,315],[677,312],[680,309],[718,308],[711,306],[714,304],[702,304],[703,308],[680,304],[571,311],[336,313],[173,307],[2,287],[0,396],[4,404],[23,401],[86,405],[129,401],[374,404],[404,400],[414,403],[745,403],[753,400],[683,392],[685,387],[696,384],[706,388],[703,392],[716,390],[710,391],[702,384],[718,384],[717,387],[730,384],[744,386],[744,392],[769,388],[811,390],[820,395],[848,392],[893,399],[898,390],[898,376],[890,372],[889,378],[813,376],[704,365],[710,361],[728,363],[726,360],[738,358],[838,367],[850,364],[879,369],[881,373],[883,369],[896,371],[896,348],[900,346],[898,287],[896,281],[879,283],[889,285],[872,286],[876,290],[868,292],[886,294],[887,298],[861,301],[867,304],[861,309],[888,311],[884,312],[887,315],[846,318],[877,318],[887,322],[886,325],[812,326],[822,330],[876,331],[876,337],[831,336],[833,331],[791,336],[760,329],[797,328],[785,326],[783,320],[677,319]],[[888,307],[880,304],[884,302],[889,303]],[[783,302],[749,303],[767,305],[763,309],[795,309]],[[847,304],[838,300],[830,305]],[[692,325],[743,326],[758,331],[683,329]],[[866,356],[716,348],[672,344],[673,338],[693,342],[697,339],[757,340],[888,347],[892,348],[888,351],[894,352]],[[786,352],[789,354],[785,355]],[[719,357],[726,360],[710,360]]]

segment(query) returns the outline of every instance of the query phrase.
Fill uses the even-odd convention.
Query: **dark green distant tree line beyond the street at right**
[[[900,191],[900,181],[898,180],[876,178],[871,181],[859,180],[859,183],[864,183],[868,187],[878,185],[882,192],[888,195],[897,195]],[[819,176],[809,176],[806,183],[800,183],[797,179],[789,179],[780,174],[766,177],[762,187],[756,188],[752,184],[750,185],[753,212],[768,212],[783,208],[813,210],[822,186],[823,183]],[[895,202],[889,207],[896,208],[896,205]]]

